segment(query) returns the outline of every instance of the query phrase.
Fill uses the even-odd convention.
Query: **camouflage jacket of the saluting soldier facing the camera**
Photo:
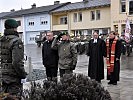
[[[74,43],[70,41],[62,41],[59,43],[57,37],[55,37],[52,48],[58,50],[58,67],[60,69],[71,69],[71,66],[76,66],[77,50]]]

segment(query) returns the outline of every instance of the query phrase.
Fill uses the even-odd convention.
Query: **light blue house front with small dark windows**
[[[50,30],[50,15],[37,14],[25,16],[25,42],[35,44],[36,35]]]

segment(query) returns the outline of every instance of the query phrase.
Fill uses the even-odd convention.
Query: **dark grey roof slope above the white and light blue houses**
[[[62,7],[66,4],[69,4],[69,3],[70,2],[36,7],[36,8],[30,8],[30,9],[22,9],[22,10],[15,11],[14,13],[8,14],[8,15],[4,16],[3,18],[20,17],[23,15],[36,14],[36,13],[49,13],[50,11],[55,10],[55,9]]]

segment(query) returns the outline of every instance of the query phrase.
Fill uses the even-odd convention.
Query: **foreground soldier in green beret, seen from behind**
[[[27,73],[24,70],[24,45],[17,32],[18,23],[14,19],[5,21],[4,35],[0,39],[0,66],[2,92],[20,98],[22,93],[21,79]]]

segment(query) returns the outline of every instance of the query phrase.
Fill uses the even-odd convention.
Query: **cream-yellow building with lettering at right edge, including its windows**
[[[111,30],[124,34],[127,18],[133,34],[133,0],[111,0]]]

